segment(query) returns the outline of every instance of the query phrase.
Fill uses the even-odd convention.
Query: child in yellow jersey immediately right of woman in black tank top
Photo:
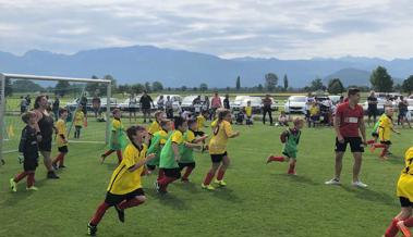
[[[68,139],[66,139],[66,118],[68,118],[68,110],[60,109],[59,110],[59,120],[56,123],[57,128],[57,144],[59,154],[53,159],[52,165],[54,170],[66,167],[64,166],[64,157],[68,154]]]

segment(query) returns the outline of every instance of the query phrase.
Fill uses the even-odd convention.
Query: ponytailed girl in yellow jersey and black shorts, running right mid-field
[[[211,124],[212,138],[209,140],[209,154],[212,161],[212,166],[207,173],[202,187],[208,190],[215,188],[210,185],[215,173],[218,171],[216,184],[219,186],[226,186],[223,182],[223,175],[230,164],[230,158],[227,152],[227,142],[229,138],[238,137],[239,132],[233,132],[231,127],[231,112],[229,110],[220,110],[218,113],[218,120]]]

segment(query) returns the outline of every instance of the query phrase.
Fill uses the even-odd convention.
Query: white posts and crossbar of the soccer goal
[[[5,127],[5,116],[7,116],[7,95],[5,95],[5,85],[8,80],[42,80],[42,82],[66,82],[66,83],[78,83],[78,84],[86,84],[88,83],[96,83],[99,85],[106,86],[106,132],[105,132],[105,144],[109,144],[110,138],[110,110],[111,110],[111,80],[108,79],[94,79],[94,78],[78,78],[78,77],[61,77],[61,76],[40,76],[40,75],[27,75],[27,74],[9,74],[9,73],[0,73],[0,159],[3,159],[3,154],[5,152],[4,150],[4,140],[7,138],[4,133],[8,127]],[[80,97],[81,98],[81,97]],[[78,98],[78,99],[80,99]],[[78,104],[77,104],[78,105]],[[102,104],[105,105],[105,104]],[[61,105],[62,107],[62,105]],[[102,129],[101,129],[102,130]],[[101,134],[104,135],[104,134]],[[20,134],[17,133],[17,136]],[[85,141],[87,142],[87,141]],[[0,162],[1,165],[1,162]]]

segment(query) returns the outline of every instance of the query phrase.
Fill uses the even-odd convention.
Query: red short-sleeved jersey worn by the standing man
[[[337,118],[340,121],[340,134],[343,137],[359,137],[359,122],[364,118],[363,107],[356,104],[350,108],[349,102],[337,108]]]

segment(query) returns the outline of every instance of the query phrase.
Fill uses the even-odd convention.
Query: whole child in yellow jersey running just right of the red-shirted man
[[[393,108],[387,107],[386,115],[380,117],[379,125],[378,125],[378,138],[380,140],[380,144],[374,144],[371,148],[372,152],[374,152],[376,148],[382,148],[382,151],[379,155],[379,158],[382,160],[388,159],[387,153],[391,146],[391,140],[390,140],[391,132],[400,135],[400,132],[393,128],[393,120],[392,120],[393,114],[394,114]]]

